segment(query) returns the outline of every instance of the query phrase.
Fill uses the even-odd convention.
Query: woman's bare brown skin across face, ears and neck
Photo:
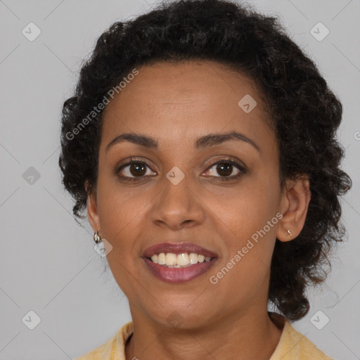
[[[87,204],[92,229],[113,246],[108,263],[129,300],[134,335],[126,358],[269,360],[282,333],[267,313],[271,255],[276,238],[289,241],[302,230],[309,179],[288,179],[280,187],[278,143],[245,75],[194,60],[138,70],[105,108],[98,184],[88,191]],[[245,94],[257,101],[250,113],[238,105]],[[259,149],[242,140],[195,149],[199,137],[228,131],[244,134]],[[158,149],[122,141],[106,150],[116,136],[130,132],[152,136]],[[117,171],[132,157],[142,164]],[[236,179],[236,166],[211,165],[224,158],[245,172]],[[173,167],[185,175],[177,185],[166,176]],[[210,283],[276,213],[283,217],[266,236],[217,284]],[[165,283],[141,255],[166,242],[196,243],[216,253],[217,262],[193,281]]]

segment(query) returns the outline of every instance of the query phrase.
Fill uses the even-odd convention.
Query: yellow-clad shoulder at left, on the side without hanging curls
[[[108,342],[75,360],[125,360],[125,342],[133,332],[133,322],[129,321]]]

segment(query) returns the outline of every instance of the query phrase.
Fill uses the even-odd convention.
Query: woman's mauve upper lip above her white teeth
[[[191,252],[195,252],[198,255],[204,255],[205,257],[217,257],[214,252],[202,248],[199,245],[195,245],[193,243],[161,243],[151,245],[143,252],[143,257],[152,257],[155,254],[160,254],[160,252],[172,252],[173,254],[179,255],[184,252],[190,254]]]

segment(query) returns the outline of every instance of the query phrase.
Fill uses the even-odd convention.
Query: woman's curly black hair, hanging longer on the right
[[[287,178],[309,176],[304,227],[294,240],[276,239],[269,283],[269,301],[288,320],[301,319],[309,311],[307,285],[325,280],[332,245],[345,240],[339,198],[352,180],[340,169],[345,150],[335,139],[342,104],[278,18],[248,4],[164,2],[101,34],[82,66],[74,96],[63,105],[59,166],[76,202],[75,219],[84,219],[88,192],[96,188],[103,110],[94,112],[95,106],[134,68],[182,60],[212,60],[250,77],[277,136],[281,186]]]

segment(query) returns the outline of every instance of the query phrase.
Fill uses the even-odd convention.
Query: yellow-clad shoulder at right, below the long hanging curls
[[[333,360],[316,347],[314,342],[311,342],[305,335],[295,330],[287,320],[285,321],[278,346],[270,358],[270,360],[279,359]]]

